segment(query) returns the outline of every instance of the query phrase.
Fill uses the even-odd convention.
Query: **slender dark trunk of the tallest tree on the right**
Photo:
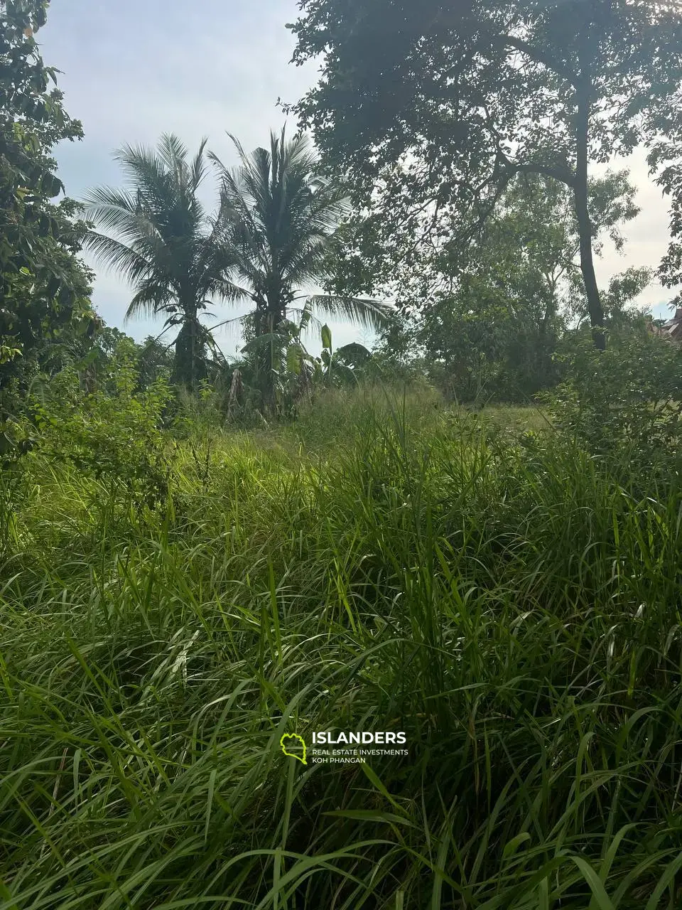
[[[583,273],[587,309],[592,326],[592,339],[598,350],[607,347],[604,327],[604,310],[599,298],[595,263],[592,255],[592,224],[587,207],[587,138],[589,131],[589,88],[581,87],[577,92],[577,159],[576,181],[573,186],[576,199],[577,226],[580,237],[580,270]]]

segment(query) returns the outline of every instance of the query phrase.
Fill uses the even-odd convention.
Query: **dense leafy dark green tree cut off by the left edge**
[[[35,43],[47,7],[0,0],[0,393],[45,369],[69,332],[95,328],[78,206],[53,201],[64,187],[51,149],[83,132]]]

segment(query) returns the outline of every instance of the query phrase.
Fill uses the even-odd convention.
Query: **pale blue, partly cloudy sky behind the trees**
[[[85,131],[80,142],[55,149],[67,195],[78,199],[92,187],[121,186],[115,148],[154,146],[165,132],[180,136],[190,152],[207,136],[208,147],[227,165],[236,163],[227,131],[247,151],[266,145],[270,129],[286,122],[277,99],[294,102],[316,82],[316,63],[289,62],[295,39],[286,23],[296,15],[296,0],[189,5],[185,0],[53,0],[47,24],[35,37],[45,63],[62,71],[58,85],[65,108]],[[295,124],[289,125],[293,130]],[[667,203],[647,177],[644,153],[611,167],[629,167],[642,211],[625,228],[623,255],[607,246],[597,260],[603,287],[630,265],[655,268],[668,240]],[[214,187],[209,182],[204,193],[210,207]],[[95,271],[93,299],[107,324],[138,340],[161,331],[161,319],[124,323],[130,288],[115,274]],[[653,284],[637,303],[663,315],[663,304],[672,296]],[[247,309],[218,304],[216,321]],[[335,347],[372,340],[362,329],[335,323],[331,328]],[[219,329],[218,341],[227,355],[240,347],[235,329]]]

